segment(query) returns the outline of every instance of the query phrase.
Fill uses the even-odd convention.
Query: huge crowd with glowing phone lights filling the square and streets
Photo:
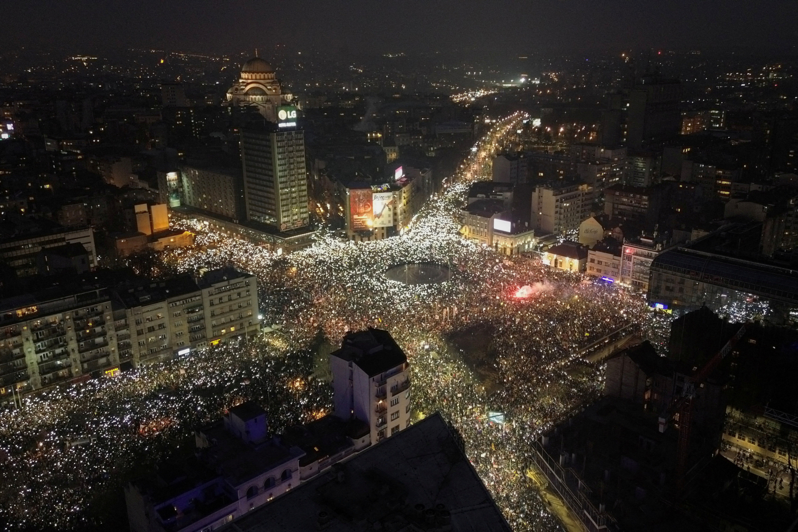
[[[0,412],[6,529],[65,530],[101,519],[104,494],[190,445],[192,428],[231,404],[258,400],[276,431],[324,415],[331,390],[314,378],[319,345],[379,327],[409,357],[413,418],[439,411],[458,429],[514,530],[558,530],[527,485],[529,443],[599,395],[601,368],[583,360],[586,346],[627,326],[662,341],[667,319],[636,294],[460,238],[468,184],[489,173],[502,136],[525,118],[497,122],[401,236],[358,243],[322,236],[278,256],[192,225],[196,246],[161,254],[162,269],[232,265],[257,275],[262,323],[279,332],[30,396],[22,409]],[[385,277],[412,262],[444,264],[452,276],[417,285]],[[489,341],[470,349],[460,339],[475,329]],[[469,351],[480,352],[479,368]]]

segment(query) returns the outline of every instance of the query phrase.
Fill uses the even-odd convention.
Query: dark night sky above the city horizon
[[[65,52],[795,49],[796,0],[0,0],[2,37]]]

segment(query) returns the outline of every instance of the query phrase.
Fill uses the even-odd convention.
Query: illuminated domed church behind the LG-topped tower
[[[291,98],[289,93],[282,93],[275,70],[258,57],[258,50],[255,50],[255,57],[241,67],[239,81],[227,90],[230,105],[255,105],[271,122],[277,121],[277,108],[289,104]]]

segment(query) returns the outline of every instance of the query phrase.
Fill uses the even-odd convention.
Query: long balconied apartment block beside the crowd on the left
[[[258,331],[256,278],[233,268],[160,282],[78,278],[0,301],[0,404]]]

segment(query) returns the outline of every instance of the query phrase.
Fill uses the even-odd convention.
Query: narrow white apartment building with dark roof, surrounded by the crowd
[[[364,421],[372,443],[409,427],[409,365],[388,331],[347,334],[330,355],[330,367],[336,416]]]

